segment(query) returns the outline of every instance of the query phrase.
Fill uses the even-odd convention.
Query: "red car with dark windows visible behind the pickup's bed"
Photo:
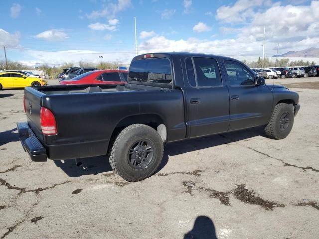
[[[69,84],[124,84],[127,82],[128,71],[98,70],[89,71],[70,80],[60,81],[60,85]]]

